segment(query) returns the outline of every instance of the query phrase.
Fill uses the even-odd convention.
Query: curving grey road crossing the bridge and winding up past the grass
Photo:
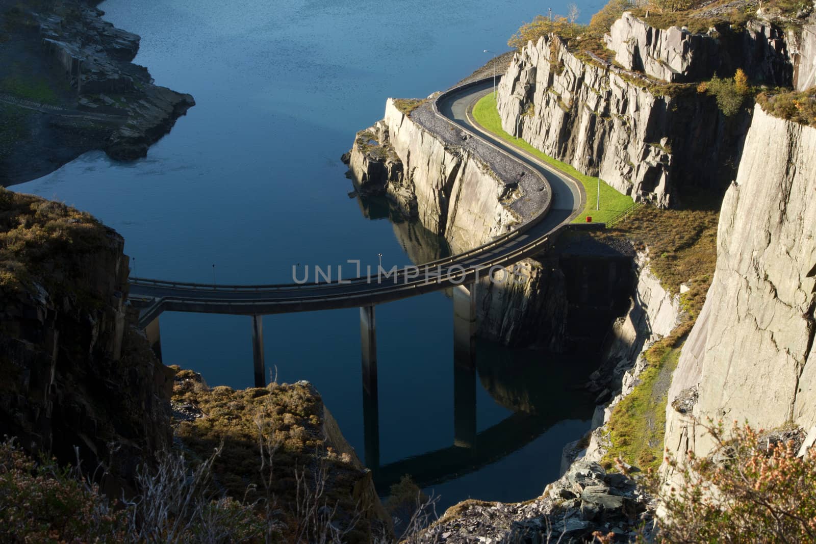
[[[317,285],[205,285],[131,278],[129,299],[140,307],[140,325],[147,326],[166,311],[268,315],[371,306],[446,289],[451,285],[468,284],[476,279],[477,274],[485,276],[491,267],[510,266],[536,254],[553,232],[578,215],[586,197],[579,182],[495,138],[473,121],[472,106],[491,91],[492,81],[490,78],[443,93],[434,103],[434,111],[445,122],[454,123],[494,150],[533,169],[551,188],[553,197],[548,210],[539,210],[533,219],[485,245],[419,265],[418,277],[400,271],[396,277],[381,277],[378,281],[374,271],[370,280],[361,276],[338,283],[335,277],[332,278],[334,283]],[[309,280],[314,281],[313,278],[310,275]]]

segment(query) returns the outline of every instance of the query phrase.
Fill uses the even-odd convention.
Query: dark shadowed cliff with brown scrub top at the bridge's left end
[[[125,483],[170,445],[172,380],[131,327],[122,237],[3,189],[0,211],[0,435]]]

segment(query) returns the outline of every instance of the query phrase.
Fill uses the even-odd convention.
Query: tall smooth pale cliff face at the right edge
[[[672,453],[709,448],[688,416],[765,429],[816,423],[814,276],[816,129],[757,105],[722,205],[712,286],[669,391]]]

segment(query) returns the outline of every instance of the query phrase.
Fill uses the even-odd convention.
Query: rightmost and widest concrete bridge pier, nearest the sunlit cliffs
[[[454,445],[476,441],[476,284],[454,287]]]

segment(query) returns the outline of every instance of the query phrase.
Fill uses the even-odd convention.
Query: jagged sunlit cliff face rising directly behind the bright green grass
[[[510,63],[499,83],[499,114],[504,130],[636,200],[671,206],[682,193],[676,180],[717,187],[731,179],[747,116],[723,117],[693,86],[661,95],[668,91],[653,93],[650,85],[641,74],[585,63],[560,38],[543,37]]]

